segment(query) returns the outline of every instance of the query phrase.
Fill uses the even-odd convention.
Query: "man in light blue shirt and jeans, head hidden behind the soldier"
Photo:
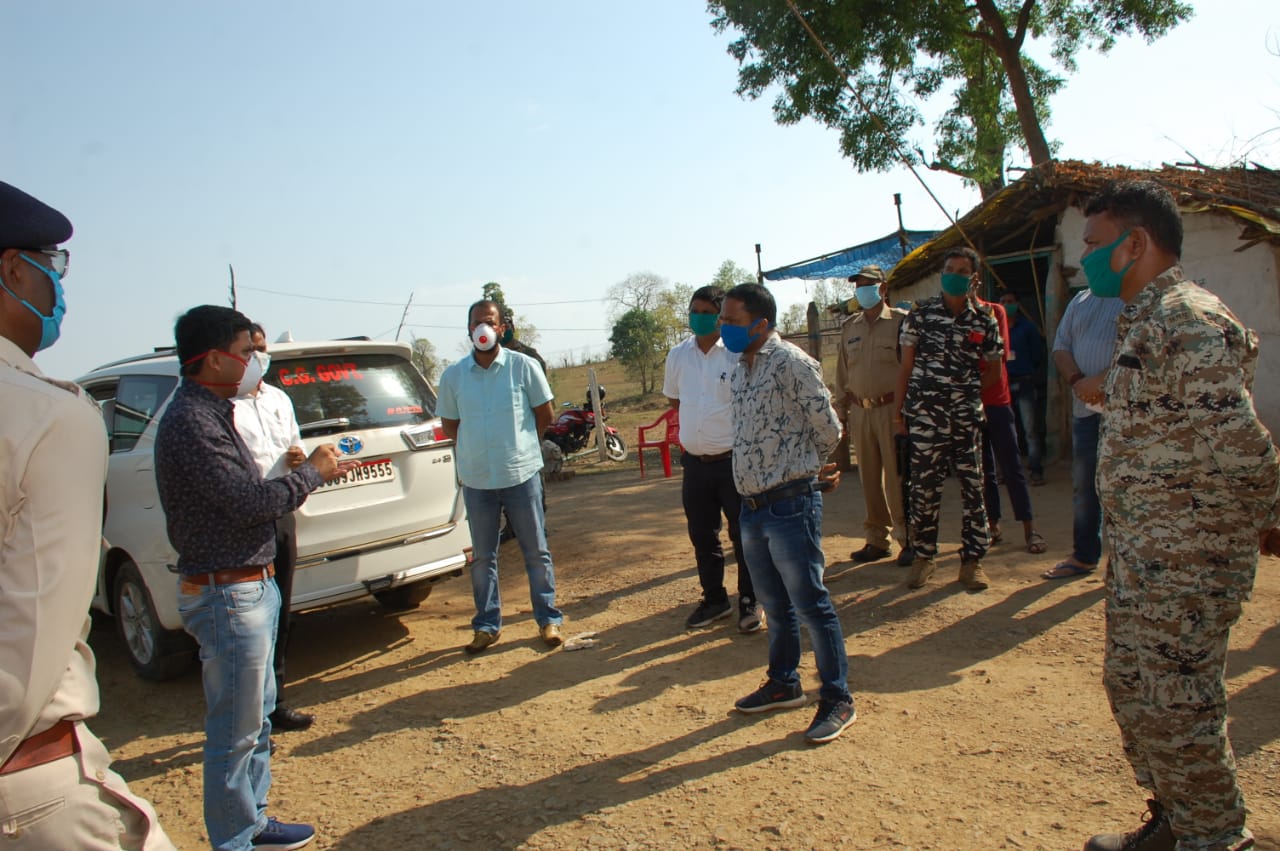
[[[1102,424],[1102,383],[1116,348],[1119,298],[1098,298],[1088,289],[1066,306],[1053,337],[1053,366],[1071,386],[1071,555],[1043,573],[1065,580],[1092,573],[1102,558],[1102,505],[1094,476]],[[1093,406],[1092,408],[1089,406]]]

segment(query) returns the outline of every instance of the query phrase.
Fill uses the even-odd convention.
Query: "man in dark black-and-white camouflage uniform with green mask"
[[[942,294],[916,305],[899,340],[899,434],[911,439],[911,543],[915,561],[910,587],[933,576],[938,552],[938,511],[947,468],[960,480],[964,526],[960,537],[960,582],[970,591],[987,587],[982,557],[987,554],[987,508],[982,494],[982,390],[1000,378],[1005,351],[995,316],[978,310],[969,287],[978,274],[978,255],[952,248],[942,265]],[[908,429],[910,425],[910,429]]]

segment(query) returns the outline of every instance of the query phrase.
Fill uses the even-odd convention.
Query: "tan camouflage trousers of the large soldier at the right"
[[[1178,851],[1236,847],[1248,833],[1224,676],[1240,603],[1108,594],[1106,614],[1102,682],[1138,786],[1165,807]]]

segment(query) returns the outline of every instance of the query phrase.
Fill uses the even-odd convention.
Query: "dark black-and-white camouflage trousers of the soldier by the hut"
[[[914,413],[911,431],[911,544],[920,558],[938,553],[942,482],[954,470],[960,481],[960,558],[987,554],[987,504],[982,494],[982,430],[977,421],[955,421],[947,412]]]

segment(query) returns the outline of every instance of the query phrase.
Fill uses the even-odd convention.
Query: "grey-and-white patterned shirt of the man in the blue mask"
[[[840,443],[840,420],[822,366],[777,334],[748,367],[739,361],[733,393],[733,484],[754,497],[818,475]]]

